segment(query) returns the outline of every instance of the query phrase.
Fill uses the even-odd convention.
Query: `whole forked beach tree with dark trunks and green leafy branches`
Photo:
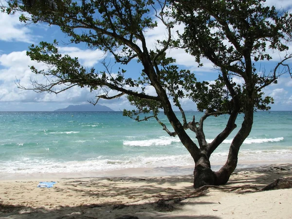
[[[97,100],[126,95],[136,110],[124,110],[124,115],[138,121],[155,118],[170,136],[180,138],[195,162],[195,188],[228,181],[237,166],[239,148],[251,131],[254,111],[268,110],[268,104],[273,102],[272,98],[264,96],[262,89],[276,82],[285,71],[290,71],[284,62],[292,57],[291,54],[287,54],[271,74],[259,74],[256,70],[256,61],[271,59],[267,49],[287,51],[289,47],[285,43],[292,38],[292,16],[265,6],[264,0],[66,0],[61,6],[58,6],[59,1],[53,0],[55,7],[46,9],[26,2],[10,0],[8,7],[3,6],[2,10],[8,14],[28,12],[30,18],[20,16],[24,22],[57,25],[70,36],[72,43],[83,42],[90,48],[110,53],[121,66],[130,61],[138,61],[143,66],[136,79],[128,78],[122,68],[112,74],[106,63],[106,70],[98,72],[94,68],[86,69],[77,58],[59,54],[57,41],[40,42],[37,46],[31,45],[27,55],[50,67],[44,70],[31,67],[34,73],[44,75],[48,83],[40,84],[34,80],[32,89],[59,93],[73,86],[87,86],[91,91],[101,89]],[[158,40],[155,49],[147,48],[145,39],[145,31],[157,26],[151,14],[167,31],[166,39]],[[180,39],[171,35],[176,22],[185,25]],[[167,57],[166,51],[178,47],[193,55],[200,65],[202,57],[211,60],[220,71],[216,82],[197,81],[192,72],[175,65],[175,60]],[[232,80],[235,76],[244,82],[235,83]],[[152,86],[156,96],[147,94],[146,86]],[[110,96],[110,90],[117,91],[116,95]],[[204,112],[199,121],[195,117],[187,121],[180,102],[182,98],[193,100],[198,110]],[[174,113],[172,104],[179,108],[182,121]],[[160,109],[173,131],[159,119]],[[218,172],[214,172],[209,158],[236,128],[239,113],[244,113],[244,120],[230,144],[228,159]],[[147,115],[140,118],[140,114]],[[226,127],[207,143],[204,120],[223,114],[230,115]],[[196,134],[199,145],[186,133],[187,129]]]

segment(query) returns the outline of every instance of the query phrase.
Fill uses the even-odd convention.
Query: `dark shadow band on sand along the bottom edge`
[[[193,205],[212,204],[212,202],[198,202]],[[52,210],[44,207],[32,208],[28,206],[1,205],[0,219],[220,219],[208,215],[183,215],[178,213],[182,204],[173,204],[174,209],[165,209],[157,203],[132,204],[132,205],[80,205],[63,206]],[[195,213],[196,211],[194,211]],[[122,216],[135,216],[137,218],[123,218]]]

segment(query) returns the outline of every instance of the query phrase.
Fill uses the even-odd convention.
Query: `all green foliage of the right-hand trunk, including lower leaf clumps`
[[[211,108],[231,111],[230,88],[240,112],[245,110],[247,94],[253,93],[255,110],[268,110],[273,100],[263,97],[261,89],[274,81],[277,76],[259,76],[254,61],[271,60],[266,49],[284,51],[286,40],[292,39],[292,16],[264,5],[264,0],[210,0],[172,1],[173,16],[185,25],[181,36],[182,47],[201,63],[201,58],[211,60],[219,69],[227,70],[231,76],[244,80],[238,85],[219,77],[215,84],[207,81],[193,84],[190,98],[197,102],[200,111]],[[290,55],[291,57],[291,55]],[[229,77],[231,79],[231,77]],[[248,89],[248,90],[247,90]]]

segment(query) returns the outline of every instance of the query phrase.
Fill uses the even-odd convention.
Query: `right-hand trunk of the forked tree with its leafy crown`
[[[183,0],[173,3],[176,18],[185,24],[182,35],[184,48],[195,56],[199,63],[201,57],[205,57],[219,68],[221,71],[219,79],[223,81],[230,95],[226,101],[227,105],[224,99],[220,100],[221,97],[213,102],[214,98],[211,96],[205,102],[201,99],[202,96],[195,96],[199,110],[206,110],[205,117],[212,115],[208,113],[208,107],[211,107],[213,112],[215,110],[216,115],[226,112],[230,114],[226,128],[209,144],[206,143],[200,126],[203,120],[200,121],[197,139],[207,159],[236,127],[237,114],[244,113],[241,128],[230,144],[225,165],[218,172],[210,172],[206,176],[207,183],[226,183],[237,166],[239,148],[252,129],[254,111],[268,110],[267,104],[273,102],[269,97],[263,98],[262,89],[276,82],[279,76],[276,74],[278,67],[292,56],[286,54],[275,66],[274,71],[268,75],[259,74],[255,62],[272,59],[266,52],[267,49],[278,51],[289,49],[288,45],[292,37],[292,15],[265,6],[265,0]],[[226,40],[228,43],[224,43]],[[289,65],[286,66],[290,72]],[[232,82],[231,75],[242,78],[244,80],[242,86]],[[204,159],[200,160],[203,168],[195,169],[195,178],[200,179],[201,172],[209,169],[208,160]]]

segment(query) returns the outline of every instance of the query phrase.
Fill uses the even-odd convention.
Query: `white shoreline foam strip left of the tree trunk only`
[[[73,173],[73,172],[92,172],[110,171],[137,167],[167,167],[192,164],[190,156],[157,156],[157,157],[120,157],[105,158],[99,157],[83,161],[56,161],[44,159],[19,160],[13,163],[1,163],[0,174],[27,174],[27,173]]]

